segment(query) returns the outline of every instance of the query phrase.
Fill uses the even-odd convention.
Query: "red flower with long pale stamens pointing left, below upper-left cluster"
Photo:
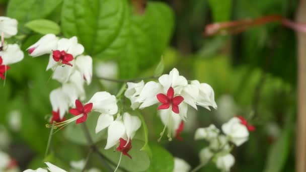
[[[86,104],[85,106],[82,105],[81,101],[75,100],[75,109],[70,109],[69,112],[72,115],[78,116],[83,114],[81,118],[77,120],[77,124],[83,123],[87,119],[87,114],[91,112],[93,109],[93,103]]]

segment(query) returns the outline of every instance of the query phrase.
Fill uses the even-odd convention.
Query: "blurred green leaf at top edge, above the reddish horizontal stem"
[[[232,0],[208,0],[208,4],[211,8],[214,22],[230,20]]]

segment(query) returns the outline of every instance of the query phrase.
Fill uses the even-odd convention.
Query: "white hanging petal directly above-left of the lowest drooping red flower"
[[[119,143],[119,139],[124,135],[125,128],[121,121],[114,121],[108,127],[107,143],[105,149],[109,149]]]

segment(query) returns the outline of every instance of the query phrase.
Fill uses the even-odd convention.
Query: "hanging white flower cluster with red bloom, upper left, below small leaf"
[[[84,47],[75,36],[59,39],[54,34],[47,34],[27,50],[33,57],[49,54],[47,70],[51,69],[52,78],[62,83],[62,87],[50,93],[51,123],[64,121],[64,114],[75,107],[75,100],[85,99],[84,83],[90,84],[92,80],[92,57],[82,55]]]

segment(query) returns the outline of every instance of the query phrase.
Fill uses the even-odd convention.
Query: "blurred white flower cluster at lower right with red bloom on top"
[[[233,143],[240,146],[249,139],[249,131],[254,131],[255,127],[250,125],[242,116],[234,117],[221,126],[224,134],[213,124],[206,128],[198,128],[195,132],[195,139],[205,139],[209,146],[203,148],[200,153],[202,164],[206,164],[213,159],[216,167],[222,171],[230,171],[235,163],[235,157],[230,153]]]

